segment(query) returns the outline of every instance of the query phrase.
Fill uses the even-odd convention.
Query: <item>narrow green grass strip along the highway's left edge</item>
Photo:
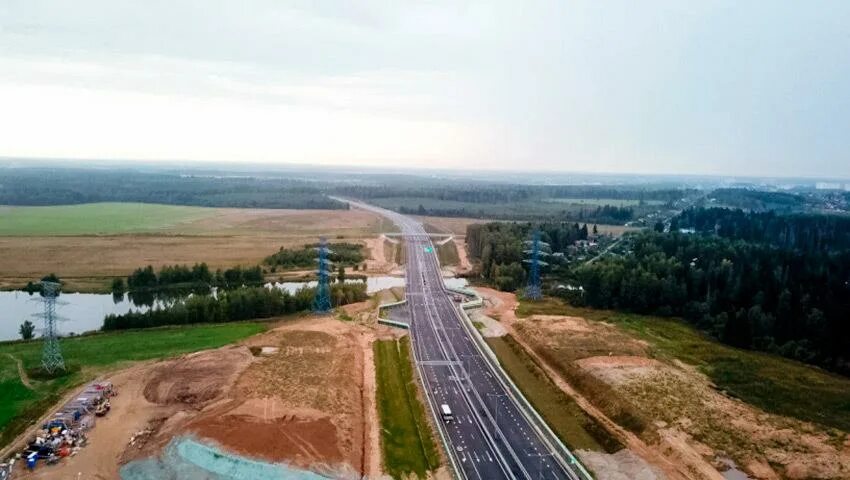
[[[384,468],[393,478],[425,478],[440,465],[427,412],[417,395],[409,338],[374,344],[381,449]]]

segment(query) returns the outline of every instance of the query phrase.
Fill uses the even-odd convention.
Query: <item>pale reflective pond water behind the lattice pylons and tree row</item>
[[[362,280],[347,280],[360,282]],[[463,278],[447,278],[446,285],[463,287],[467,284]],[[267,284],[271,287],[272,284]],[[305,286],[316,286],[316,282],[284,282],[275,283],[277,288],[294,293]],[[392,287],[403,287],[404,277],[369,277],[366,279],[366,291],[374,293]],[[200,293],[200,292],[195,292]],[[100,329],[103,317],[109,314],[124,314],[131,309],[146,311],[151,305],[162,306],[186,298],[193,293],[190,290],[172,292],[171,294],[124,294],[113,297],[111,294],[100,293],[62,293],[57,299],[56,312],[59,319],[59,332],[62,335],[83,333]],[[24,320],[30,320],[36,326],[36,335],[41,335],[43,320],[34,317],[41,313],[44,307],[41,297],[36,293],[30,295],[24,291],[0,292],[0,341],[17,340],[20,338],[18,328]]]

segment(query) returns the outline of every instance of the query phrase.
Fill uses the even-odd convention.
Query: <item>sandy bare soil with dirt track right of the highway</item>
[[[730,398],[696,369],[653,358],[648,344],[614,325],[557,315],[517,319],[513,295],[477,290],[485,312],[502,320],[559,387],[667,478],[722,480],[727,458],[757,479],[850,478],[846,432]],[[563,375],[576,370],[608,385],[635,415],[651,419],[650,428],[635,435],[606,416],[600,399],[581,395]]]

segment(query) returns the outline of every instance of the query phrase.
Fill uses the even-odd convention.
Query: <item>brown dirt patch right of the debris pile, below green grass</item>
[[[232,385],[251,358],[248,349],[235,347],[163,362],[148,375],[144,396],[159,405],[183,404],[200,408]]]

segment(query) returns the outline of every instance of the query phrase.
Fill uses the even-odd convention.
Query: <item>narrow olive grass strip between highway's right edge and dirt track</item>
[[[623,448],[604,427],[552,383],[513,337],[508,335],[486,340],[511,380],[567,447],[608,453]]]

